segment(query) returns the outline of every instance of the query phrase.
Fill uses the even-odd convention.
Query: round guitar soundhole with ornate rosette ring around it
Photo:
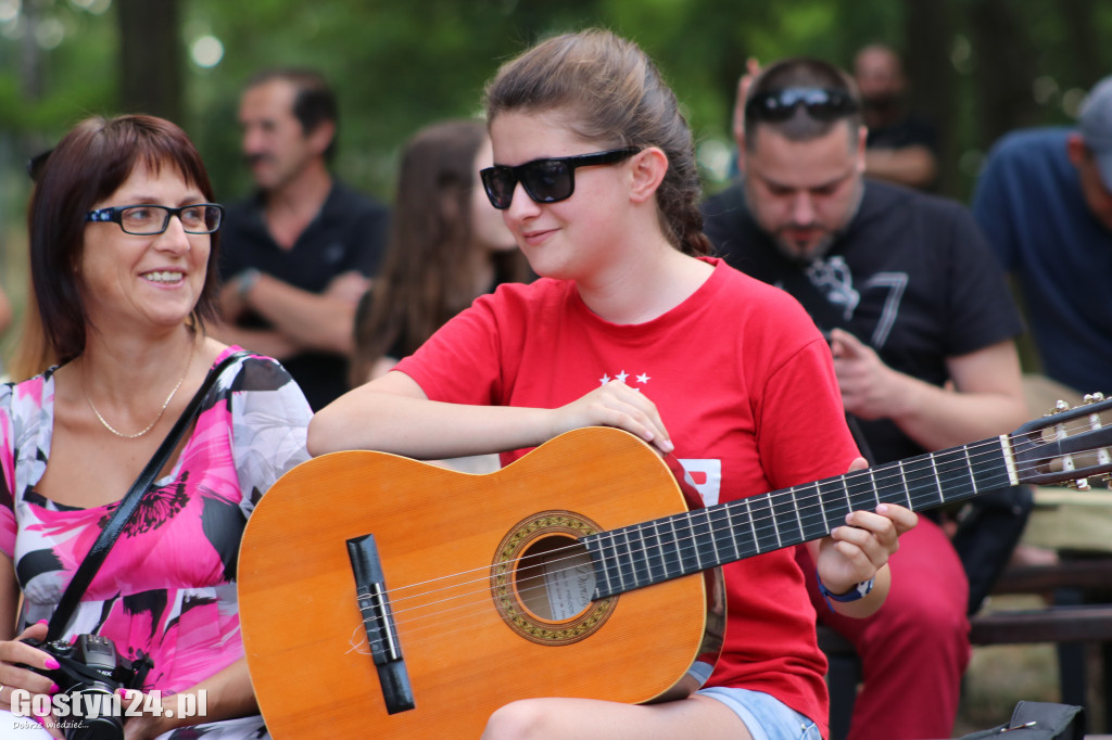
[[[598,531],[569,511],[522,521],[502,541],[490,573],[498,613],[522,637],[542,644],[577,642],[602,627],[617,598],[592,601],[595,572],[578,539]]]

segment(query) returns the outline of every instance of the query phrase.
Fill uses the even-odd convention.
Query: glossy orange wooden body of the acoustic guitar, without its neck
[[[706,650],[703,576],[587,602],[575,542],[684,510],[657,454],[614,429],[568,432],[486,476],[363,451],[298,466],[262,497],[239,558],[244,642],[270,733],[476,738],[517,699],[683,696]],[[366,534],[415,704],[394,713],[346,547]],[[582,578],[546,580],[544,563],[566,552],[578,567],[563,572]]]

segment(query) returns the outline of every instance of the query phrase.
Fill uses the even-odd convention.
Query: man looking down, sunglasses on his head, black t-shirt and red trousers
[[[848,78],[786,60],[748,88],[743,179],[704,207],[727,262],[791,292],[828,332],[862,451],[890,462],[1011,431],[1025,420],[1007,287],[956,203],[865,179]],[[806,389],[801,388],[801,393]],[[865,620],[820,619],[854,642],[865,682],[854,740],[950,737],[969,660],[969,584],[933,521],[901,539],[892,590]],[[923,701],[923,697],[931,701]]]

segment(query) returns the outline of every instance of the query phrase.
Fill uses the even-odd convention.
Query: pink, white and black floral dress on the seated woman
[[[23,593],[19,630],[50,618],[117,507],[61,506],[34,490],[50,459],[53,370],[0,386],[0,550],[14,563]],[[300,389],[276,361],[249,356],[225,369],[173,471],[148,490],[67,637],[97,633],[111,638],[129,659],[139,651],[149,656],[155,666],[143,689],[160,690],[163,702],[241,658],[239,542],[259,498],[308,459],[310,417]],[[267,733],[254,717],[162,737],[230,740]]]

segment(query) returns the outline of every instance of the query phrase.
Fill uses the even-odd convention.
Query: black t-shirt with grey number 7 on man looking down
[[[784,288],[821,329],[851,331],[888,367],[920,380],[942,386],[946,358],[1022,332],[999,263],[956,202],[866,180],[856,216],[807,268],[783,257],[756,224],[741,183],[703,212],[707,237],[729,264]],[[875,462],[925,451],[890,420],[861,428]]]

